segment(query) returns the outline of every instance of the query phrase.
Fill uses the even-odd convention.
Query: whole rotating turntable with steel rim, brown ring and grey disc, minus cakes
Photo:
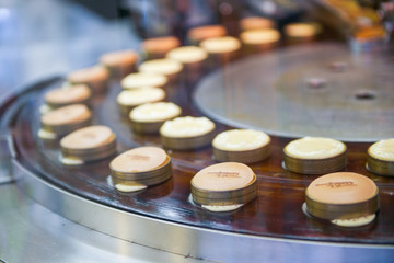
[[[326,55],[321,54],[322,49]],[[329,69],[331,62],[338,60],[346,62],[347,71]],[[374,67],[357,68],[359,60]],[[302,71],[300,64],[305,66]],[[280,69],[279,73],[271,75],[273,67]],[[273,136],[271,157],[251,165],[257,175],[258,198],[232,213],[208,213],[189,202],[193,175],[216,163],[210,147],[169,151],[173,179],[130,194],[117,192],[108,183],[108,159],[78,168],[63,167],[58,160],[59,148],[36,136],[44,93],[59,87],[61,77],[37,82],[2,103],[1,127],[12,134],[18,153],[12,160],[14,178],[27,195],[72,221],[113,237],[211,261],[233,256],[258,261],[267,259],[269,250],[314,250],[304,252],[312,258],[345,250],[348,262],[357,259],[355,255],[387,260],[393,255],[390,245],[394,244],[394,181],[366,169],[370,146],[366,141],[390,136],[394,125],[394,106],[390,103],[392,70],[387,57],[351,55],[340,45],[316,44],[246,58],[215,71],[195,89],[193,101],[197,107],[185,100],[190,98],[189,83],[169,90],[169,101],[181,105],[185,114],[204,113],[215,119],[217,133],[229,127],[253,127]],[[267,73],[258,75],[262,71]],[[355,77],[367,73],[369,82]],[[316,77],[325,78],[326,87],[310,88],[308,79]],[[383,88],[376,90],[374,83],[379,81]],[[352,84],[345,88],[344,83]],[[374,98],[358,99],[359,89],[373,92]],[[119,83],[113,81],[108,93],[95,100],[93,122],[115,132],[118,152],[142,145],[161,147],[159,136],[130,132],[117,110],[119,91]],[[355,115],[360,111],[362,116]],[[346,229],[302,213],[305,187],[316,176],[286,171],[281,161],[282,148],[291,137],[305,135],[351,141],[346,142],[346,171],[368,175],[381,191],[381,211],[373,224]]]

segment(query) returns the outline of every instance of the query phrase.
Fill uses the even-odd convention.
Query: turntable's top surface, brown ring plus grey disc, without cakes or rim
[[[329,67],[338,61],[346,64],[344,72]],[[359,65],[366,66],[359,68]],[[392,137],[394,76],[390,71],[393,61],[389,57],[351,55],[340,45],[318,44],[254,56],[216,71],[195,90],[198,107],[190,101],[190,83],[182,81],[172,87],[167,91],[169,101],[179,104],[184,115],[206,113],[217,122],[217,133],[231,127],[254,127],[271,135],[273,156],[251,165],[257,175],[258,198],[232,213],[209,213],[189,202],[190,179],[215,163],[210,147],[167,151],[173,178],[129,194],[117,192],[108,184],[109,159],[82,167],[62,165],[59,147],[37,138],[44,92],[60,85],[61,78],[39,82],[19,96],[19,111],[11,128],[18,160],[28,170],[68,192],[109,207],[252,236],[394,244],[394,179],[374,175],[366,169],[370,142],[360,142]],[[309,87],[305,83],[310,78],[325,79],[325,87]],[[366,90],[373,98],[358,99],[357,92]],[[120,118],[115,99],[119,91],[118,82],[114,81],[107,95],[96,100],[94,123],[115,132],[118,152],[142,145],[161,147],[159,136],[132,134]],[[380,187],[381,209],[375,221],[359,228],[340,228],[303,214],[304,191],[316,176],[288,172],[281,163],[282,149],[291,137],[305,135],[351,141],[346,142],[346,171],[368,175]]]

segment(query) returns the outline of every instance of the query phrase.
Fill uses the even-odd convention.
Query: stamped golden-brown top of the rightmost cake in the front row
[[[375,183],[352,172],[329,173],[315,179],[306,188],[313,201],[325,204],[355,204],[366,202],[376,195]]]

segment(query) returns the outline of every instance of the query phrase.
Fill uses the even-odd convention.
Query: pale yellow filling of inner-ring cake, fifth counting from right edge
[[[172,102],[146,103],[130,112],[130,119],[141,123],[154,123],[181,115],[181,107]]]

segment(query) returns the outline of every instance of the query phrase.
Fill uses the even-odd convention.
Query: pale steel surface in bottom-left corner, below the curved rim
[[[116,239],[74,224],[21,194],[14,184],[0,185],[0,262],[85,263],[185,262],[184,255]],[[188,258],[190,263],[201,262]]]

